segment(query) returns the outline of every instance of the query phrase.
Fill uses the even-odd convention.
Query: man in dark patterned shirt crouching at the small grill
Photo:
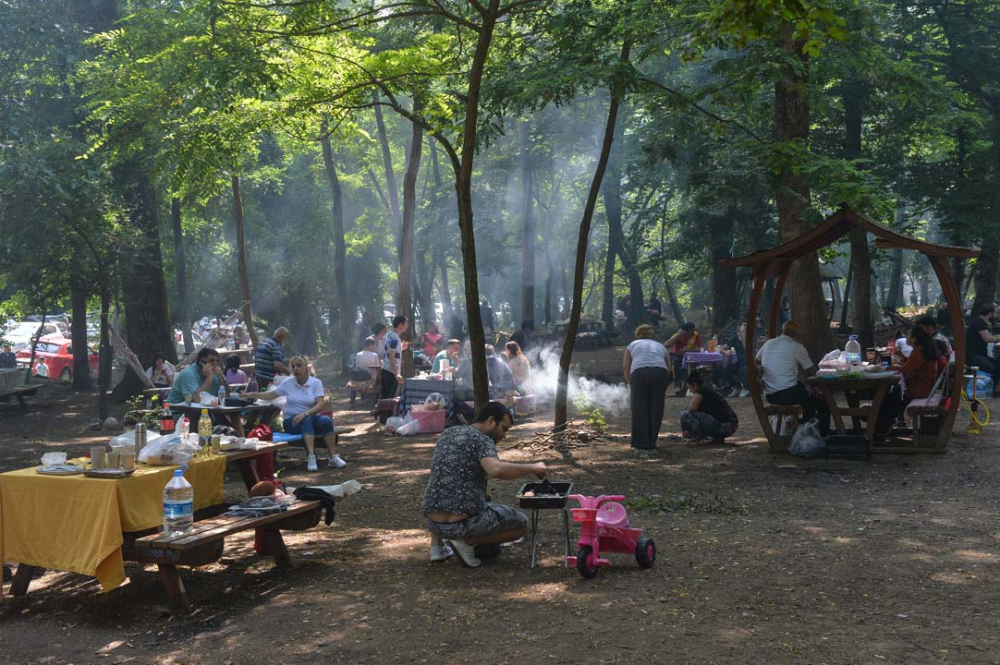
[[[462,563],[476,568],[482,563],[476,545],[511,542],[528,532],[527,515],[486,497],[487,478],[544,478],[547,473],[543,462],[500,461],[496,444],[513,424],[503,404],[490,402],[472,425],[449,428],[438,438],[422,507],[432,561],[443,561],[454,549]]]

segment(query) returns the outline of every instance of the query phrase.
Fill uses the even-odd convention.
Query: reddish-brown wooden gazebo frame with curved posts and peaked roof
[[[764,429],[764,433],[771,443],[772,450],[775,450],[774,442],[779,437],[771,427],[769,416],[773,415],[770,413],[771,411],[779,412],[781,409],[765,407],[759,377],[757,376],[757,368],[754,363],[756,356],[754,342],[757,311],[760,307],[761,295],[764,292],[765,284],[768,279],[772,277],[776,278],[775,293],[777,295],[771,303],[771,312],[768,318],[768,337],[773,338],[778,334],[778,311],[781,303],[781,293],[784,291],[785,280],[788,277],[792,263],[796,259],[808,256],[827,245],[837,242],[854,228],[864,229],[866,232],[874,235],[875,246],[879,249],[911,249],[920,252],[930,261],[931,267],[934,268],[938,281],[941,283],[941,289],[948,304],[948,311],[951,314],[951,327],[955,336],[955,365],[950,375],[951,386],[949,392],[957,396],[958,390],[961,389],[962,375],[965,369],[965,321],[962,317],[962,302],[958,287],[955,285],[955,280],[952,277],[948,259],[975,258],[979,256],[979,249],[935,245],[909,238],[873,222],[864,215],[844,206],[823,223],[803,233],[794,240],[774,249],[755,252],[739,258],[726,259],[722,262],[724,266],[745,266],[750,268],[751,271],[753,290],[751,291],[750,304],[747,311],[747,379],[750,384],[750,395],[753,398],[754,410],[757,412],[757,418],[760,420],[761,427]],[[948,437],[951,435],[951,430],[955,423],[958,407],[958,399],[952,399],[947,410],[944,407],[940,407],[941,417],[937,419],[936,432],[933,436],[924,437],[922,441],[920,436],[915,435],[912,442],[898,442],[897,445],[887,445],[884,448],[876,448],[876,450],[894,452],[944,452],[948,445]],[[919,432],[916,434],[919,434]]]

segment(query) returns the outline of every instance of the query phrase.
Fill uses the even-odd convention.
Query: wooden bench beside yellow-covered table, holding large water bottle
[[[228,506],[216,508],[218,512],[227,510]],[[191,611],[191,603],[177,566],[205,566],[214,563],[222,557],[226,536],[254,529],[262,537],[268,554],[274,557],[275,566],[289,568],[292,558],[281,538],[281,531],[306,531],[313,528],[319,523],[321,509],[318,501],[297,501],[285,512],[273,515],[248,517],[221,514],[199,519],[191,531],[179,536],[164,536],[157,532],[130,538],[130,534],[126,534],[122,558],[139,563],[155,563],[167,591],[170,610],[175,614],[187,613]]]

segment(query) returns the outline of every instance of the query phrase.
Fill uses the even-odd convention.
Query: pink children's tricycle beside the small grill
[[[576,566],[583,577],[590,579],[611,562],[602,559],[604,552],[634,554],[640,568],[650,568],[656,560],[656,544],[652,538],[642,535],[642,529],[629,526],[625,506],[618,503],[625,497],[620,495],[599,497],[570,494],[579,508],[571,508],[573,521],[580,523],[580,549],[576,556],[566,557],[571,566]]]

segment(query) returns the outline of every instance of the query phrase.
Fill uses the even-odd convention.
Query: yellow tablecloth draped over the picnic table
[[[175,466],[136,467],[121,480],[0,474],[0,560],[96,577],[105,591],[125,581],[122,533],[163,522],[163,487]],[[195,510],[222,502],[224,457],[192,460],[184,477]]]

